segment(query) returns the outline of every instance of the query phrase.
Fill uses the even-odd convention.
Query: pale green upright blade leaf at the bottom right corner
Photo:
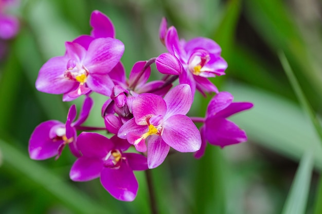
[[[282,214],[305,214],[313,169],[313,153],[309,149],[302,157],[284,204]]]

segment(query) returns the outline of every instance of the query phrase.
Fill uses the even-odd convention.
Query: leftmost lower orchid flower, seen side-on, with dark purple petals
[[[56,159],[58,159],[66,144],[68,144],[71,153],[79,157],[80,153],[76,147],[76,128],[85,122],[92,105],[93,100],[87,97],[84,100],[79,118],[75,122],[73,121],[76,118],[76,107],[72,105],[69,108],[65,124],[60,121],[50,120],[38,125],[29,140],[30,158],[45,160],[56,156]]]

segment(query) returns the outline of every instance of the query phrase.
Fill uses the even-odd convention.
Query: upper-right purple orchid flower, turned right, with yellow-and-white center
[[[179,40],[175,27],[167,29],[163,19],[159,29],[160,40],[164,41],[169,53],[180,60],[184,71],[179,75],[180,84],[186,83],[203,95],[205,92],[216,92],[218,89],[207,78],[225,74],[226,61],[220,56],[221,48],[209,38],[197,37],[189,42]]]

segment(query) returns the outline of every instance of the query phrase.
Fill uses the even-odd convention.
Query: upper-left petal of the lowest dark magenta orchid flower
[[[82,132],[77,138],[77,147],[84,157],[103,158],[115,145],[101,134]]]

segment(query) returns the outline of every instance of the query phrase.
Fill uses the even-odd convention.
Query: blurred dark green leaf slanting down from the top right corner
[[[279,0],[245,1],[246,17],[274,52],[283,50],[302,89],[315,108],[322,104],[322,78],[312,66],[308,48],[285,3]]]

